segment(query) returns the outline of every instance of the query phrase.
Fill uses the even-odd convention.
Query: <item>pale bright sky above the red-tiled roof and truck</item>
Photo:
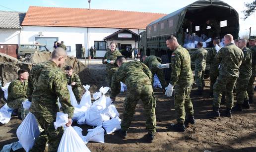
[[[196,0],[91,0],[90,8],[169,14],[194,1]],[[249,35],[250,27],[252,27],[251,35],[256,35],[256,12],[245,21],[242,19],[245,3],[254,0],[222,1],[231,5],[239,13],[240,38]],[[88,8],[88,0],[1,0],[0,2],[0,10],[26,12],[29,6]]]

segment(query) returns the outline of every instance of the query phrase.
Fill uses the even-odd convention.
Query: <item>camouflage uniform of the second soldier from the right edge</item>
[[[249,100],[246,92],[249,79],[252,75],[252,51],[248,48],[243,49],[244,59],[239,67],[239,77],[237,79],[236,93],[237,103],[242,104],[244,100]]]

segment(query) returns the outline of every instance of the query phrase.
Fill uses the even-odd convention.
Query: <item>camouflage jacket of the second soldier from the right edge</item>
[[[239,67],[239,75],[251,76],[252,75],[252,51],[249,48],[244,48],[244,59],[241,66]]]

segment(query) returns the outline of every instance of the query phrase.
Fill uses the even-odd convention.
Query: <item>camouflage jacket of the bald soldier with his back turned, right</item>
[[[238,77],[239,66],[244,58],[244,53],[235,44],[231,43],[220,49],[215,55],[216,65],[220,64],[219,74],[223,76]]]

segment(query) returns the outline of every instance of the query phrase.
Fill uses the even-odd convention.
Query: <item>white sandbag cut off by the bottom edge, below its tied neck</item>
[[[65,129],[58,152],[90,152],[72,126]]]

